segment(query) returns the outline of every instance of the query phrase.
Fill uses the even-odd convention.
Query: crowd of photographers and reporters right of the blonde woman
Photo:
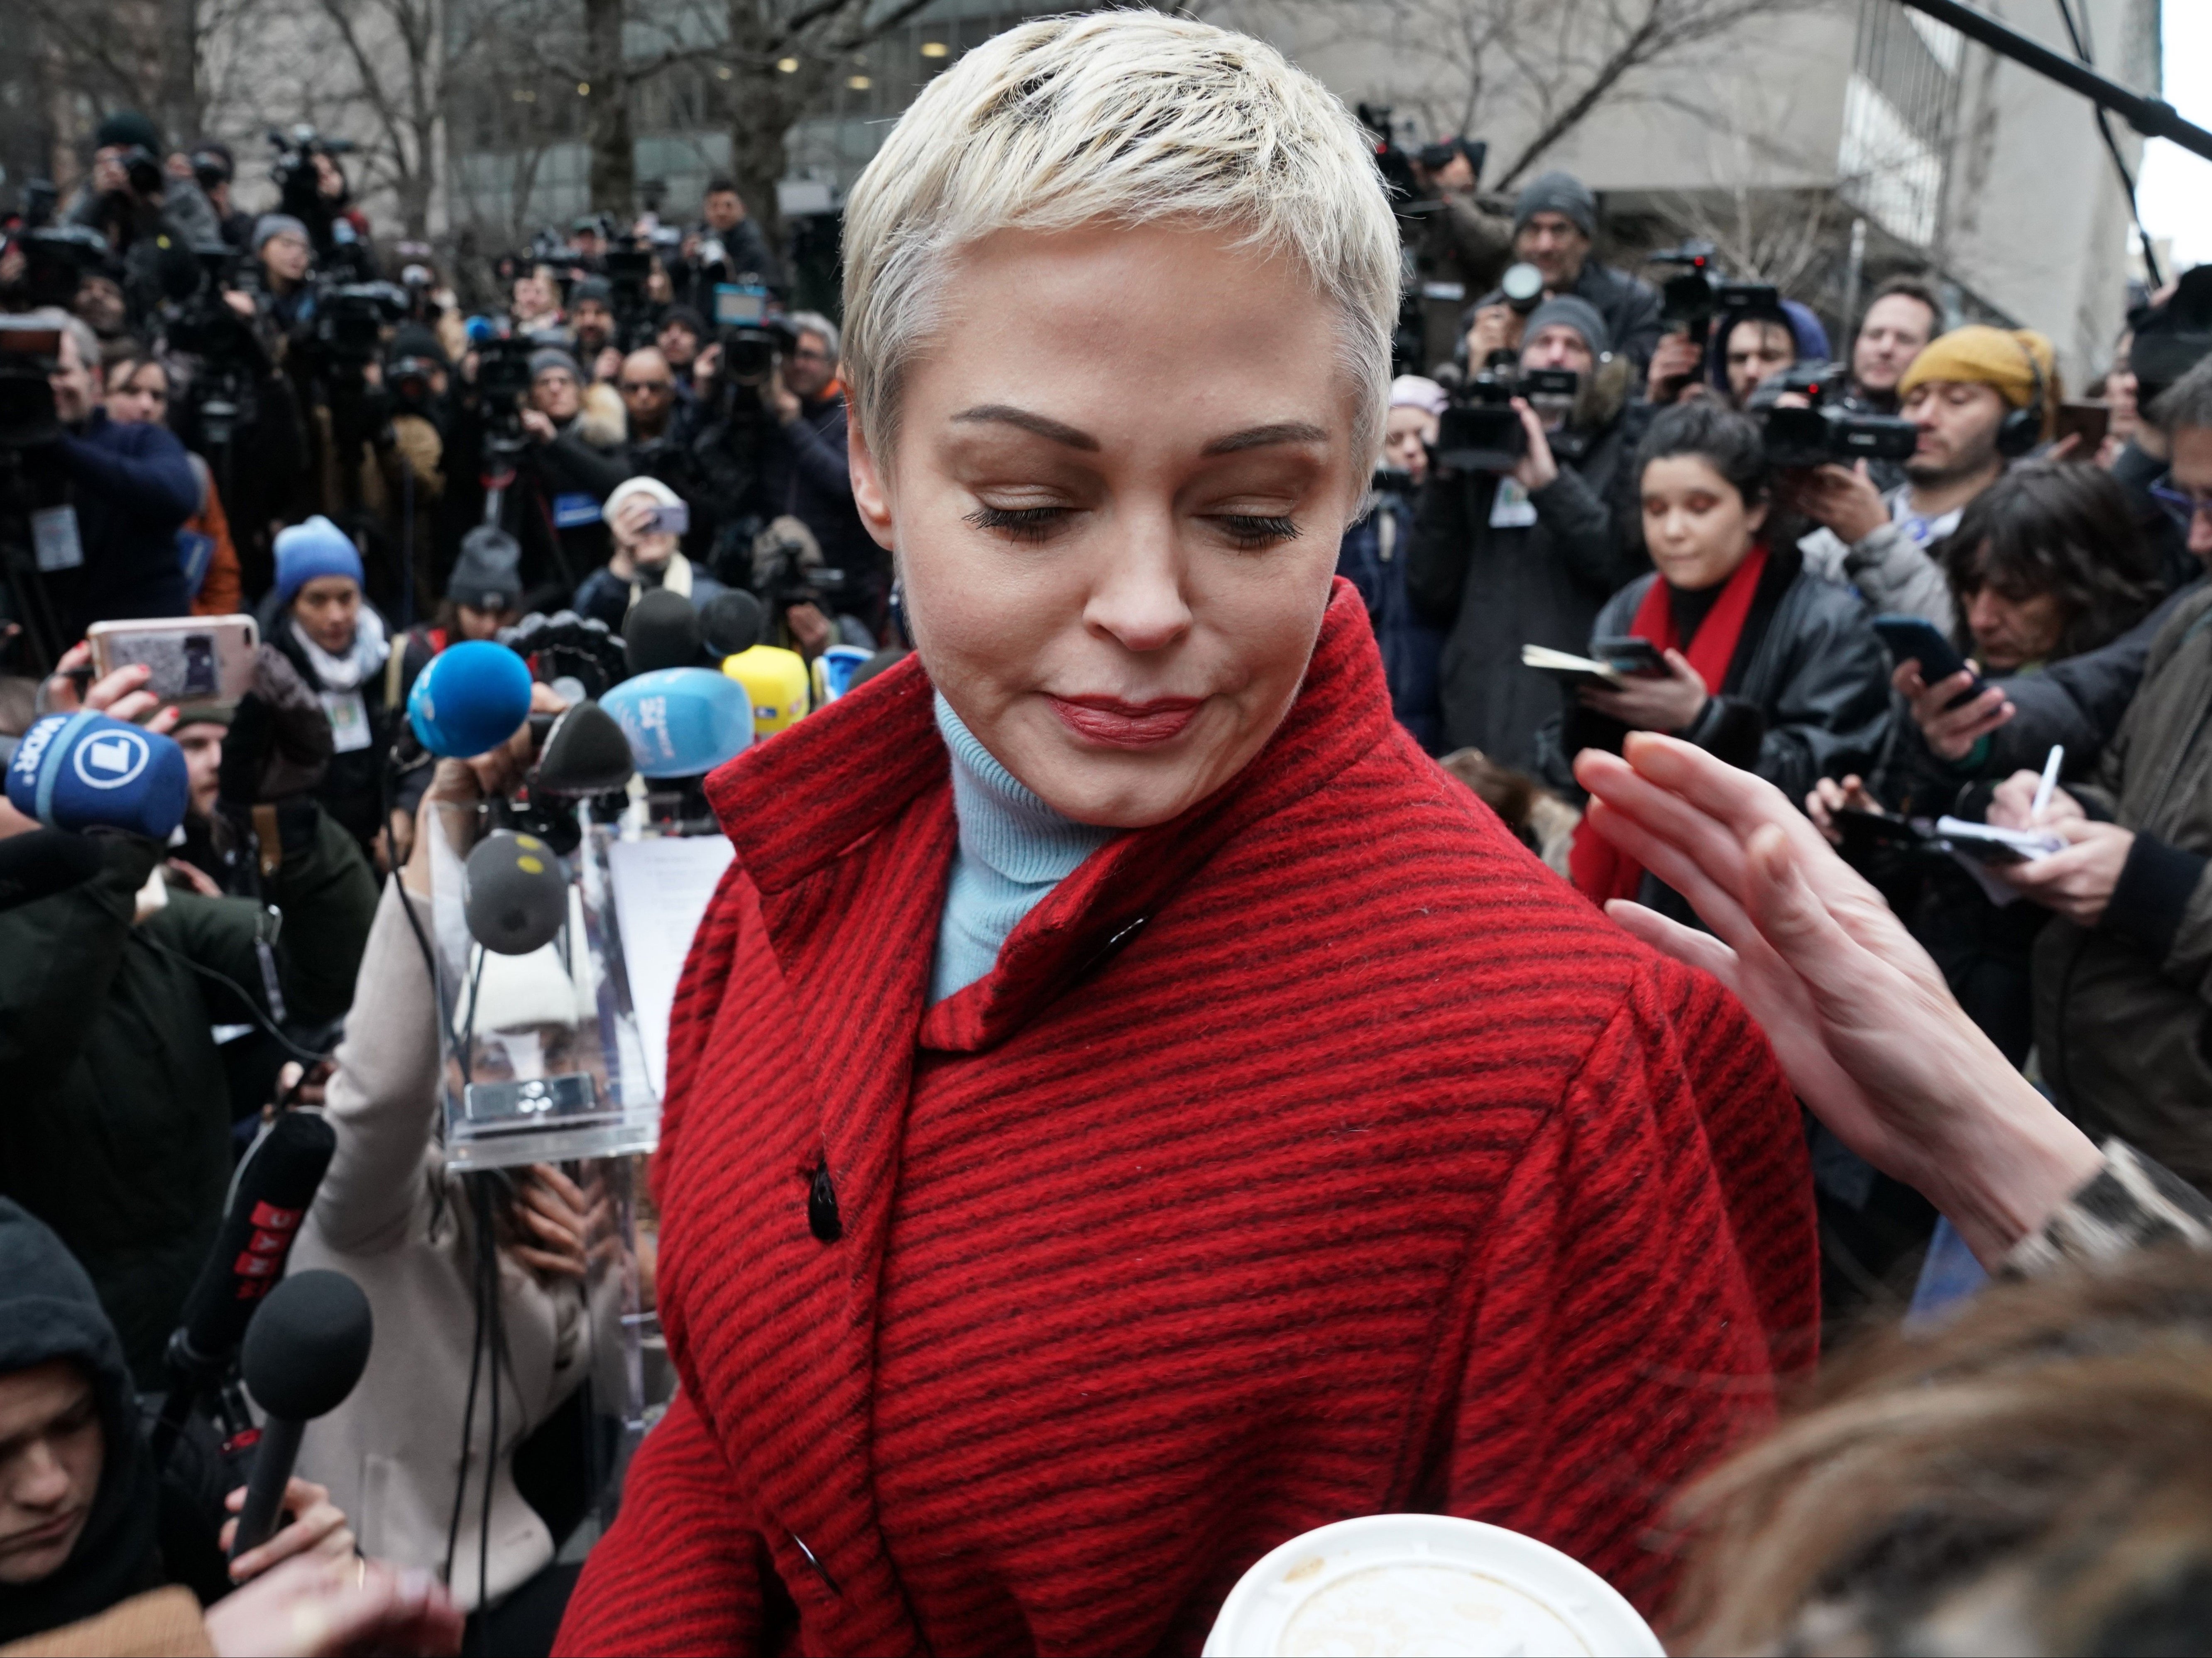
[[[2070,398],[2042,334],[1920,276],[1836,351],[1705,245],[1606,267],[1571,175],[1500,201],[1480,146],[1400,164],[1427,371],[1338,562],[1400,723],[1590,898],[1683,922],[1579,829],[1575,756],[1668,732],[1778,785],[2075,1121],[2212,1178],[2212,270]],[[1816,1187],[1832,1324],[1955,1242],[1825,1130]]]

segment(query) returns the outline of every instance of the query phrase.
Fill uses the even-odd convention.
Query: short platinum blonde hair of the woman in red
[[[887,453],[951,256],[998,230],[1194,221],[1285,256],[1343,318],[1354,458],[1383,444],[1398,228],[1358,124],[1274,46],[1157,11],[987,40],[900,117],[845,203],[845,385]]]

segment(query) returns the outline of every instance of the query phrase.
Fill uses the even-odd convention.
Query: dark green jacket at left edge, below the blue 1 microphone
[[[133,926],[161,849],[102,836],[86,884],[0,913],[0,1194],[84,1262],[139,1386],[155,1386],[230,1185],[230,1092],[210,1026],[345,1012],[376,913],[352,836],[314,807],[285,836],[270,909],[170,891]],[[268,946],[268,951],[263,951]]]

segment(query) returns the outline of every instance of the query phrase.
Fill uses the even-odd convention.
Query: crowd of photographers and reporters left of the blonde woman
[[[131,816],[142,783],[93,818],[137,833],[42,827],[69,809],[38,789],[0,805],[0,1258],[7,1298],[49,1309],[7,1309],[0,1342],[0,1645],[168,1583],[217,1651],[449,1649],[462,1618],[471,1649],[546,1651],[555,1552],[604,1488],[580,1386],[611,1353],[584,1282],[606,1194],[445,1174],[420,825],[518,778],[425,752],[409,692],[526,634],[591,692],[752,661],[732,679],[776,730],[827,694],[816,659],[898,654],[889,566],[854,511],[838,327],[785,307],[726,181],[688,228],[540,234],[462,316],[427,248],[372,239],[343,146],[283,135],[265,212],[232,170],[115,113],[84,188],[27,192],[0,241],[0,745],[31,776],[113,721],[186,776],[173,829]],[[241,615],[243,699],[155,696],[97,654],[115,626]],[[305,1435],[290,1523],[226,1561],[243,1441],[195,1417],[155,1455],[135,1399],[179,1388],[279,1103],[336,1130],[292,1269],[358,1282],[383,1340]],[[104,1638],[181,1638],[148,1616]]]

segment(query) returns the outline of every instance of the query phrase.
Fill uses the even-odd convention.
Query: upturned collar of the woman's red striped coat
[[[1374,630],[1338,577],[1305,683],[1252,763],[1179,818],[1093,853],[1006,937],[998,968],[927,1012],[922,1046],[973,1052],[1013,1035],[1135,937],[1225,840],[1323,787],[1389,730]],[[907,657],[710,776],[708,800],[765,898],[949,791],[949,774],[929,679]]]

